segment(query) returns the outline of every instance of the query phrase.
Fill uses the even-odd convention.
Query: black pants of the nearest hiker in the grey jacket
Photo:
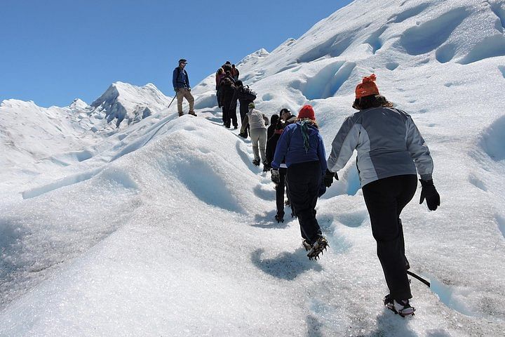
[[[386,277],[391,297],[412,298],[405,267],[405,242],[400,213],[414,197],[417,176],[393,176],[363,186],[363,197],[370,214],[377,256]]]

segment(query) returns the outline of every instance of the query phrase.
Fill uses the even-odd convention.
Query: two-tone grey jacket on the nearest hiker
[[[328,169],[344,168],[354,150],[361,187],[372,181],[416,174],[431,180],[433,160],[412,118],[402,110],[375,107],[345,119],[332,142]]]

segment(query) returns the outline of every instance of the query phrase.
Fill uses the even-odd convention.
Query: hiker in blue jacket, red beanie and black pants
[[[304,105],[300,109],[297,121],[285,126],[278,139],[271,162],[274,183],[279,178],[277,170],[283,161],[287,166],[285,183],[292,210],[299,221],[307,256],[311,260],[317,259],[328,246],[316,219],[316,202],[326,171],[326,154],[311,105]]]

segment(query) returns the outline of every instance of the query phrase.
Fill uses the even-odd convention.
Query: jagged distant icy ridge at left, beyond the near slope
[[[159,112],[170,103],[154,84],[112,84],[91,105],[76,98],[67,107],[39,107],[34,102],[0,104],[0,165],[31,163],[80,149],[120,128]],[[36,142],[34,140],[36,139]]]

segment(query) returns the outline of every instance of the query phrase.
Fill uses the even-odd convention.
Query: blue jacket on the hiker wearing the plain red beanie
[[[305,139],[302,133],[304,127],[307,130]],[[278,169],[284,158],[288,167],[306,161],[319,161],[321,174],[324,174],[327,167],[326,152],[318,128],[307,121],[297,121],[286,126],[277,142],[272,168]]]

